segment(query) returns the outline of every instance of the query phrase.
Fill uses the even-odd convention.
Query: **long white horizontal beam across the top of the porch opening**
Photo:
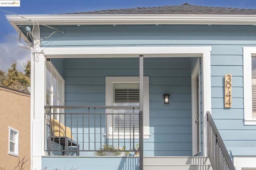
[[[36,48],[52,58],[203,57],[211,47],[51,47]]]

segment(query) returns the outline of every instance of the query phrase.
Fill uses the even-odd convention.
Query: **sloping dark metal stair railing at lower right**
[[[236,170],[220,133],[207,111],[207,150],[213,170]]]

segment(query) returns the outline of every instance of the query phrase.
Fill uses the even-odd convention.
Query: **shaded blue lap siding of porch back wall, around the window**
[[[138,76],[138,59],[64,59],[65,104],[105,106],[105,76]],[[191,156],[191,78],[189,58],[144,59],[144,76],[150,84],[150,139],[145,139],[146,156]],[[164,105],[163,94],[170,104]],[[71,110],[72,111],[72,110]],[[102,112],[100,110],[98,112]],[[72,117],[72,133],[80,147],[88,149],[88,116]],[[70,116],[66,125],[70,126]],[[96,117],[96,140],[100,139],[100,117]],[[77,125],[78,123],[78,125]],[[102,123],[105,119],[102,117]],[[104,131],[102,128],[102,132]],[[90,148],[94,149],[94,119],[90,117]],[[104,141],[104,137],[102,136]],[[128,139],[126,139],[126,142]],[[114,144],[115,145],[115,144]],[[116,144],[117,145],[117,144]],[[96,149],[100,143],[96,143]],[[80,153],[81,155],[84,153]],[[85,154],[88,155],[88,154]],[[89,155],[92,155],[90,153]]]

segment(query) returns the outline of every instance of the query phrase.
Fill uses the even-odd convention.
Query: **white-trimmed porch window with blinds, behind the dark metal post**
[[[144,139],[148,139],[149,134],[149,77],[144,77]],[[139,106],[139,77],[106,77],[106,106]],[[106,113],[124,113],[133,110],[106,109]],[[135,113],[138,113],[138,109]],[[107,138],[130,138],[130,115],[107,116]],[[113,127],[112,127],[113,126]],[[139,118],[135,117],[134,137],[139,137]],[[125,129],[125,131],[124,131]],[[118,134],[119,133],[119,134]]]

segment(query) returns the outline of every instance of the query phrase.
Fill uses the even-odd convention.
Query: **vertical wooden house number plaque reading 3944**
[[[225,74],[225,107],[230,108],[232,104],[232,75]]]

